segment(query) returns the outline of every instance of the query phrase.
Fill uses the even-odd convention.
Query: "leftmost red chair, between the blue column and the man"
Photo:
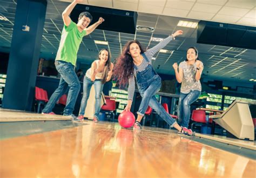
[[[42,106],[45,106],[45,104],[49,101],[48,94],[43,88],[35,87],[35,109],[37,113],[42,112]]]

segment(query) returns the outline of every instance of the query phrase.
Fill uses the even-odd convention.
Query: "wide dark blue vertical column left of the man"
[[[31,111],[46,6],[46,0],[17,1],[3,108]]]

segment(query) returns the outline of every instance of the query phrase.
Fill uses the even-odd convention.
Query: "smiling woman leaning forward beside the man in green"
[[[80,106],[78,119],[84,119],[84,112],[87,105],[87,100],[90,95],[91,86],[95,87],[95,114],[93,121],[99,121],[100,97],[103,90],[103,85],[109,81],[112,76],[113,63],[111,63],[111,54],[109,50],[102,49],[99,51],[99,58],[93,61],[91,68],[86,71],[83,86],[83,98]]]

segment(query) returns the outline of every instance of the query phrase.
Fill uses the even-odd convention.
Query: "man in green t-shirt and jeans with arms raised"
[[[69,115],[71,119],[75,121],[79,121],[79,119],[73,115],[77,96],[80,91],[79,79],[75,72],[79,45],[84,36],[89,35],[99,24],[104,22],[104,19],[100,17],[98,22],[87,28],[92,20],[92,16],[89,12],[80,13],[77,24],[72,22],[69,15],[76,4],[80,2],[82,2],[82,0],[74,0],[62,13],[64,28],[55,59],[56,69],[60,73],[59,86],[51,95],[48,104],[42,112],[42,114],[55,114],[52,112],[52,108],[55,106],[58,99],[69,91],[63,115]]]

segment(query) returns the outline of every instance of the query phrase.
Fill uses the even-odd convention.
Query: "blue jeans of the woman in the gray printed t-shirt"
[[[179,95],[178,122],[183,127],[188,127],[190,122],[190,105],[198,99],[201,91],[191,90],[189,93]]]

